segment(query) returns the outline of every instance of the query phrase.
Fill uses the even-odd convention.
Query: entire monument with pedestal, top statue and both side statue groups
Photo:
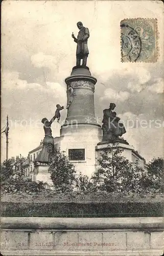
[[[123,155],[127,159],[131,161],[132,155],[137,157],[133,147],[121,137],[126,133],[126,130],[123,123],[120,122],[120,118],[114,112],[114,103],[110,103],[109,109],[103,111],[102,127],[97,123],[94,102],[97,79],[91,75],[89,68],[86,66],[89,54],[87,47],[89,30],[83,26],[82,22],[78,22],[77,26],[79,28],[77,38],[74,33],[72,34],[74,41],[77,43],[76,66],[73,67],[71,74],[65,78],[67,92],[66,119],[60,129],[60,137],[54,139],[51,124],[56,118],[59,122],[60,111],[64,107],[57,104],[53,119],[50,122],[46,118],[43,120],[48,123],[48,127],[45,127],[44,124],[43,148],[35,160],[36,181],[42,180],[50,183],[48,168],[51,159],[49,159],[47,150],[48,144],[49,149],[55,146],[60,148],[61,151],[65,151],[68,160],[75,165],[77,172],[81,172],[89,178],[98,168],[97,158],[100,157],[100,153],[110,146],[113,141],[124,148]]]

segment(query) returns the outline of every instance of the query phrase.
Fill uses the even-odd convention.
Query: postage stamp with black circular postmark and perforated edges
[[[158,32],[156,18],[132,18],[121,21],[121,61],[156,62]]]

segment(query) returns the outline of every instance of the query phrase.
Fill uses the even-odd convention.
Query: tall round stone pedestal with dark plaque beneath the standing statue
[[[67,85],[67,117],[60,130],[60,146],[78,172],[95,172],[96,145],[102,139],[95,117],[94,92],[97,79],[87,67],[74,67]]]

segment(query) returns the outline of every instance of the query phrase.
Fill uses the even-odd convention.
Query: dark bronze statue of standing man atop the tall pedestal
[[[74,33],[72,33],[72,37],[74,41],[77,43],[76,50],[76,66],[80,66],[81,59],[83,60],[82,66],[86,66],[87,57],[89,54],[87,40],[89,38],[89,30],[88,28],[83,27],[82,22],[77,23],[78,29],[80,29],[78,33],[78,37],[76,38]]]

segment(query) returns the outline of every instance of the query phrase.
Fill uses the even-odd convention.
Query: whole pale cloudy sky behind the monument
[[[89,28],[87,66],[98,79],[96,116],[115,102],[125,122],[124,138],[147,161],[163,152],[163,4],[161,1],[4,1],[2,3],[2,121],[9,115],[9,157],[28,152],[43,139],[40,120],[66,106],[64,79],[76,64],[78,21]],[[157,18],[158,61],[122,63],[120,22]],[[66,118],[62,111],[61,122]],[[145,120],[145,121],[142,121]],[[139,123],[139,125],[138,125]],[[101,122],[100,122],[101,124]],[[53,135],[60,125],[54,122]],[[1,135],[5,159],[6,138]]]

